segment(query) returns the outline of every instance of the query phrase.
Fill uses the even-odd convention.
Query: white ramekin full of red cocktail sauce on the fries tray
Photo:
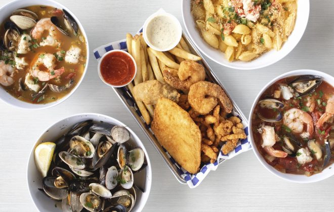
[[[136,61],[127,51],[111,50],[100,59],[98,72],[105,84],[111,87],[123,87],[135,78]]]

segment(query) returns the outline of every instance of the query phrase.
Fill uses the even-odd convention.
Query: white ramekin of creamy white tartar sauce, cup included
[[[154,50],[171,50],[180,42],[181,36],[182,27],[179,20],[162,9],[148,17],[144,23],[144,40]]]

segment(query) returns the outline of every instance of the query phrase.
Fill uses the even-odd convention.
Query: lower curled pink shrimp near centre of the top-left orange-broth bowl
[[[64,67],[55,70],[56,57],[52,54],[40,54],[36,63],[30,70],[33,77],[37,77],[39,81],[49,81],[64,73]],[[44,65],[49,71],[41,71],[40,65]]]

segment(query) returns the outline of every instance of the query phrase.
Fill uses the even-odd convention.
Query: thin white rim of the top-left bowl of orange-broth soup
[[[26,2],[26,0],[14,0],[10,3],[7,3],[6,5],[2,6],[0,8],[0,11],[3,11],[5,10],[8,6],[12,6],[12,5],[15,5],[17,4],[18,2]],[[82,73],[82,76],[80,78],[80,80],[78,81],[78,83],[76,84],[76,86],[74,88],[72,88],[71,92],[69,92],[66,96],[62,97],[61,99],[57,100],[57,101],[53,101],[53,102],[50,102],[50,103],[46,103],[46,104],[33,104],[33,103],[29,103],[29,102],[25,102],[23,101],[24,103],[26,103],[26,105],[35,105],[36,107],[35,108],[26,108],[24,106],[20,106],[20,105],[17,105],[13,102],[9,102],[7,100],[5,100],[2,96],[0,96],[0,99],[4,102],[6,102],[7,104],[9,105],[12,105],[16,108],[19,108],[19,109],[23,109],[23,110],[43,110],[43,109],[48,109],[48,108],[52,108],[60,103],[62,103],[63,101],[65,101],[68,97],[70,97],[75,91],[76,89],[80,86],[81,82],[84,80],[85,76],[86,76],[86,73],[87,73],[87,69],[88,69],[88,66],[89,66],[89,58],[90,58],[90,50],[89,50],[89,42],[88,42],[88,37],[87,37],[87,34],[86,34],[86,31],[84,29],[84,27],[81,25],[80,21],[78,20],[78,18],[72,13],[71,10],[69,10],[67,7],[65,7],[64,5],[54,1],[54,0],[41,0],[40,1],[40,5],[48,5],[48,3],[52,3],[54,5],[58,5],[57,7],[58,8],[61,8],[61,9],[65,9],[67,12],[69,12],[69,14],[72,15],[72,17],[75,19],[75,21],[77,22],[77,24],[79,25],[79,28],[81,30],[81,33],[82,35],[84,35],[85,37],[85,40],[86,40],[86,49],[87,49],[87,59],[86,59],[86,67],[84,69],[84,72]],[[29,4],[27,4],[29,5]],[[36,5],[36,4],[31,4],[32,5]],[[28,6],[26,6],[28,7]],[[52,6],[54,7],[54,6]],[[19,8],[17,8],[19,9]],[[0,89],[3,89],[2,87],[0,87]],[[8,95],[10,95],[10,97],[12,98],[15,98],[14,96],[12,96],[11,94],[8,93]],[[17,98],[16,98],[17,99]],[[18,100],[18,99],[17,99]],[[18,101],[21,101],[21,100],[18,100]]]

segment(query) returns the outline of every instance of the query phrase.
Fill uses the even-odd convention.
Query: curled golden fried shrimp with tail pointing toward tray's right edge
[[[190,86],[188,101],[191,107],[199,114],[210,113],[218,103],[217,98],[223,104],[225,112],[231,113],[233,109],[232,102],[219,85],[207,81],[199,81]]]

